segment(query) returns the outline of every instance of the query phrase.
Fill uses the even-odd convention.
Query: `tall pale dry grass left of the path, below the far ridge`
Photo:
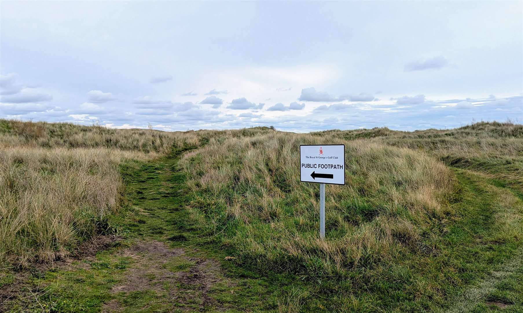
[[[118,208],[118,164],[141,152],[7,148],[0,151],[0,261],[53,261],[103,227]]]

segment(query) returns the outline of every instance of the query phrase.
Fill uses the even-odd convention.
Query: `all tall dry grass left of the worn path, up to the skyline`
[[[0,262],[26,265],[67,255],[118,209],[121,162],[198,143],[194,131],[0,119]]]

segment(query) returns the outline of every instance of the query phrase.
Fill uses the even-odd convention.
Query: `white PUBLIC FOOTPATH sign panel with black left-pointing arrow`
[[[345,144],[300,146],[300,180],[345,185]]]

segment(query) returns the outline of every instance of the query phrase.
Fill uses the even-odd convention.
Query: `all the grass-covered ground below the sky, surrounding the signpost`
[[[47,213],[49,220],[69,216],[55,224],[71,230],[67,243],[56,244],[66,242],[63,232],[26,219],[25,232],[3,232],[2,244],[24,247],[5,249],[4,264],[60,262],[102,230],[121,238],[69,267],[4,270],[3,288],[23,290],[9,299],[12,311],[96,312],[111,304],[129,312],[523,307],[523,126],[510,121],[415,132],[170,134],[0,120],[0,134],[2,169],[16,174],[0,176],[0,195],[12,199],[4,208]],[[107,146],[111,136],[118,140]],[[142,136],[170,141],[137,144]],[[299,144],[314,143],[346,146],[346,185],[326,188],[325,241],[317,236],[319,188],[298,180]],[[56,187],[76,176],[82,179]],[[18,187],[3,177],[15,177],[9,179]],[[79,186],[79,195],[90,196],[74,194]],[[62,189],[76,196],[60,207]],[[45,205],[27,204],[26,194],[46,196]],[[80,213],[91,215],[82,223],[75,220]],[[37,224],[53,225],[44,220]],[[52,244],[25,240],[38,233],[48,233]],[[168,249],[160,254],[137,250],[162,244]],[[143,286],[118,289],[129,282]]]

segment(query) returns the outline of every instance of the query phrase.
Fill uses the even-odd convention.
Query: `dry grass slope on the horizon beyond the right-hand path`
[[[405,132],[374,128],[331,130],[313,135],[409,148],[446,165],[501,178],[523,189],[523,125],[510,120],[477,122],[456,129]]]

